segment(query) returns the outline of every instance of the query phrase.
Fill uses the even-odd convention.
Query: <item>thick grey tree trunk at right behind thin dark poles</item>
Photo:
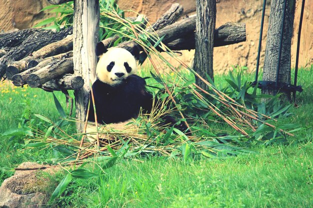
[[[263,68],[263,81],[276,81],[276,71],[278,65],[278,53],[280,43],[280,30],[283,18],[283,5],[284,0],[272,0],[270,6],[264,68]],[[278,82],[290,84],[290,54],[291,54],[291,37],[294,19],[295,0],[287,0],[284,30],[282,39],[281,59],[279,64]],[[268,85],[267,85],[268,86]],[[275,94],[278,90],[272,87],[265,87],[262,93]],[[278,85],[279,86],[279,85]],[[283,91],[283,90],[281,90]],[[286,92],[287,97],[290,92]]]

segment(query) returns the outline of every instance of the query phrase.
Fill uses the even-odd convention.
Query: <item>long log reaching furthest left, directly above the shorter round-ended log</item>
[[[40,48],[39,50],[32,52],[31,55],[28,55],[19,61],[14,61],[13,63],[9,64],[6,70],[6,77],[8,79],[12,79],[13,75],[25,71],[28,68],[29,62],[34,59],[44,58],[55,54],[58,54],[58,56],[60,56],[55,58],[61,58],[62,56],[64,56],[64,54],[59,53],[70,51],[72,50],[72,48],[73,48],[73,36],[68,35],[64,39],[50,43]],[[34,62],[31,62],[30,64],[34,64]]]

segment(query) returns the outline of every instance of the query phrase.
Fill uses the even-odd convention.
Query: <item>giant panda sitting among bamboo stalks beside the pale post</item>
[[[92,93],[97,122],[114,124],[113,128],[123,129],[126,123],[138,116],[140,108],[143,113],[149,113],[157,100],[146,90],[145,80],[136,75],[137,64],[134,56],[138,55],[138,50],[130,53],[118,47],[106,49],[103,43],[99,42],[95,52],[99,59]],[[87,133],[95,131],[92,123],[95,119],[91,91],[89,103]],[[168,115],[164,116],[164,123],[173,126],[176,121]],[[184,124],[177,125],[176,128],[181,131],[187,129]]]

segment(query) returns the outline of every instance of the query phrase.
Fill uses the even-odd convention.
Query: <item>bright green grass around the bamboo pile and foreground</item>
[[[215,76],[224,87],[226,76]],[[106,174],[90,180],[75,180],[54,203],[56,207],[81,208],[313,208],[313,66],[301,69],[298,107],[279,124],[298,123],[289,145],[251,145],[256,154],[222,160],[199,159],[185,163],[164,157],[120,159]],[[253,80],[253,74],[243,73]],[[55,93],[62,106],[65,99]],[[68,114],[69,110],[64,108]],[[0,82],[0,134],[22,127],[33,114],[56,120],[59,114],[51,93]],[[29,121],[30,122],[30,121]],[[226,127],[225,127],[226,128]],[[292,139],[291,139],[292,141]],[[0,136],[0,184],[24,161],[41,163],[53,151],[23,149],[20,137]],[[96,166],[87,167],[90,171]],[[48,177],[52,193],[61,178]]]

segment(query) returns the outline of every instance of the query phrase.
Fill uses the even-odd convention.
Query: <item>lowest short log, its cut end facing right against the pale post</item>
[[[77,90],[83,86],[83,79],[81,76],[73,74],[65,74],[59,79],[52,79],[42,84],[40,88],[46,91],[60,91],[60,90]]]

